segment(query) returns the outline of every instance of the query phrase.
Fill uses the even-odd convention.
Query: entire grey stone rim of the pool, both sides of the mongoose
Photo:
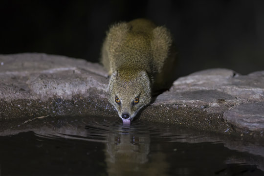
[[[0,128],[46,115],[118,119],[108,102],[107,86],[107,72],[97,63],[37,53],[0,55]],[[203,131],[249,130],[262,135],[263,102],[264,71],[240,75],[215,68],[178,78],[138,118]]]

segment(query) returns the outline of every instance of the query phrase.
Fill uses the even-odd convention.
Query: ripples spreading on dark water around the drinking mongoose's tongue
[[[83,118],[86,119],[86,118]],[[52,119],[54,121],[54,119]],[[52,121],[52,122],[53,122]],[[82,119],[67,120],[58,119],[61,125],[58,128],[56,120],[54,123],[49,123],[54,126],[49,126],[48,129],[39,130],[36,135],[47,138],[69,138],[77,140],[86,140],[93,142],[106,143],[111,135],[132,135],[134,137],[146,137],[153,142],[201,142],[199,139],[204,139],[204,134],[193,130],[183,129],[177,126],[162,125],[159,123],[142,122],[140,120],[132,121],[130,125],[123,124],[120,120],[102,120],[99,118],[89,118],[85,121]],[[74,122],[74,123],[73,123]],[[207,134],[206,134],[207,135]],[[208,136],[207,136],[208,138]],[[218,138],[210,139],[217,142]]]

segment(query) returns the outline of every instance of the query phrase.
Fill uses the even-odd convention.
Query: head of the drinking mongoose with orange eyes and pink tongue
[[[151,82],[146,71],[114,71],[109,81],[109,102],[123,122],[131,121],[151,101]]]

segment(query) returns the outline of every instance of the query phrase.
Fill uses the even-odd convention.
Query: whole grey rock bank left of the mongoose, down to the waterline
[[[11,119],[114,112],[107,72],[97,63],[36,53],[0,55],[0,63],[2,129]]]

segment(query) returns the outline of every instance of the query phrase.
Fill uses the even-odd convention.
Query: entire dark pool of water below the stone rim
[[[98,117],[47,117],[12,129],[0,133],[0,176],[264,175],[262,141]]]

